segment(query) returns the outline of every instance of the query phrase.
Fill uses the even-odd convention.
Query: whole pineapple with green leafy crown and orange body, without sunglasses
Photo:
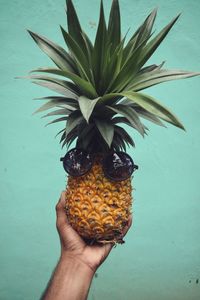
[[[45,104],[36,112],[53,109],[44,117],[58,117],[48,124],[66,124],[58,133],[62,147],[69,148],[74,142],[77,148],[95,156],[87,174],[68,176],[66,214],[70,224],[86,241],[122,243],[122,231],[133,202],[132,178],[118,182],[108,179],[103,172],[102,158],[110,151],[126,151],[126,145],[135,146],[123,124],[143,137],[148,130],[143,119],[163,127],[168,122],[184,129],[168,108],[141,90],[199,73],[167,70],[163,62],[146,65],[179,15],[153,36],[157,14],[154,9],[127,40],[127,34],[122,37],[121,33],[118,0],[112,1],[108,24],[101,1],[92,43],[81,28],[72,1],[66,1],[66,5],[68,30],[60,28],[67,49],[28,30],[56,65],[35,69],[28,78],[60,94],[40,98]]]

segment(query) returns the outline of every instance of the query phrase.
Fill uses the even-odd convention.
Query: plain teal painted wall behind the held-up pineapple
[[[108,12],[111,1],[104,1]],[[98,0],[74,0],[91,37]],[[182,16],[152,62],[168,68],[200,70],[200,2],[197,0],[121,0],[123,32],[159,7],[155,28],[161,29],[180,11]],[[1,164],[0,164],[0,299],[35,300],[59,257],[54,207],[65,188],[54,139],[59,126],[44,128],[32,116],[48,95],[15,76],[51,62],[25,29],[64,45],[64,0],[0,0],[1,37]],[[94,24],[93,24],[94,23]],[[200,130],[199,78],[165,83],[148,92],[182,120],[187,132],[148,124],[149,136],[135,136],[128,150],[139,164],[135,174],[134,225],[124,246],[117,246],[94,279],[90,300],[200,299]],[[147,123],[146,123],[147,124]]]

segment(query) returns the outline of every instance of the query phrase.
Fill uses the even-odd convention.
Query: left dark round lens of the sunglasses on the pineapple
[[[81,149],[70,150],[63,158],[63,167],[71,176],[81,176],[92,167],[92,156]]]

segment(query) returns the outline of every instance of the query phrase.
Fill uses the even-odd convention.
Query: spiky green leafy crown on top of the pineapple
[[[165,81],[200,74],[163,69],[164,63],[146,66],[179,15],[153,37],[157,14],[154,9],[126,41],[126,35],[122,37],[121,34],[119,1],[112,1],[108,24],[101,1],[98,28],[92,43],[81,28],[73,2],[67,0],[66,6],[68,31],[60,28],[68,50],[28,30],[56,65],[56,68],[31,71],[47,75],[30,75],[28,78],[62,95],[40,98],[46,103],[36,111],[53,109],[44,117],[60,117],[48,124],[66,123],[58,133],[62,146],[69,147],[76,141],[77,147],[92,152],[125,151],[126,145],[134,146],[134,141],[120,124],[126,124],[144,136],[148,128],[142,123],[143,118],[160,126],[165,127],[162,122],[165,121],[184,129],[168,108],[140,92]]]

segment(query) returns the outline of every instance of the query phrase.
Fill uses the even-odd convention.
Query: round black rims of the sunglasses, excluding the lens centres
[[[91,160],[90,160],[90,161],[91,161],[91,166],[87,169],[87,171],[84,171],[84,172],[82,172],[82,173],[79,174],[79,175],[72,175],[72,174],[70,174],[70,172],[67,171],[66,168],[65,168],[65,159],[66,159],[66,156],[68,156],[69,153],[70,153],[70,152],[73,152],[74,150],[84,151],[86,154],[91,155]],[[113,178],[112,176],[110,176],[110,175],[107,173],[106,167],[105,167],[105,160],[107,159],[107,157],[108,157],[110,154],[114,154],[114,153],[116,153],[116,154],[123,154],[123,155],[125,155],[126,157],[128,157],[128,158],[130,159],[130,161],[131,161],[131,163],[132,163],[132,168],[131,168],[131,174],[130,174],[130,176],[127,176],[127,177],[125,177],[125,178],[123,178],[123,179],[121,179],[121,178],[120,178],[120,179],[116,179],[116,178]],[[62,161],[62,163],[63,163],[63,168],[64,168],[64,170],[66,171],[66,173],[68,173],[70,176],[73,176],[73,177],[81,177],[81,176],[87,174],[87,173],[92,169],[93,164],[94,164],[94,160],[95,160],[94,154],[91,154],[91,153],[85,151],[84,149],[79,149],[79,148],[73,148],[73,149],[69,150],[69,151],[65,154],[64,157],[61,157],[61,158],[60,158],[60,161]],[[123,152],[123,151],[112,151],[112,152],[109,152],[108,154],[106,154],[106,155],[103,157],[103,159],[102,159],[102,169],[103,169],[103,172],[104,172],[104,175],[105,175],[106,178],[108,178],[108,179],[111,180],[111,181],[117,182],[117,181],[124,181],[124,180],[130,178],[130,177],[132,176],[133,172],[134,172],[135,170],[138,169],[138,166],[135,165],[135,163],[134,163],[133,159],[131,158],[131,156],[128,155],[126,152]]]

